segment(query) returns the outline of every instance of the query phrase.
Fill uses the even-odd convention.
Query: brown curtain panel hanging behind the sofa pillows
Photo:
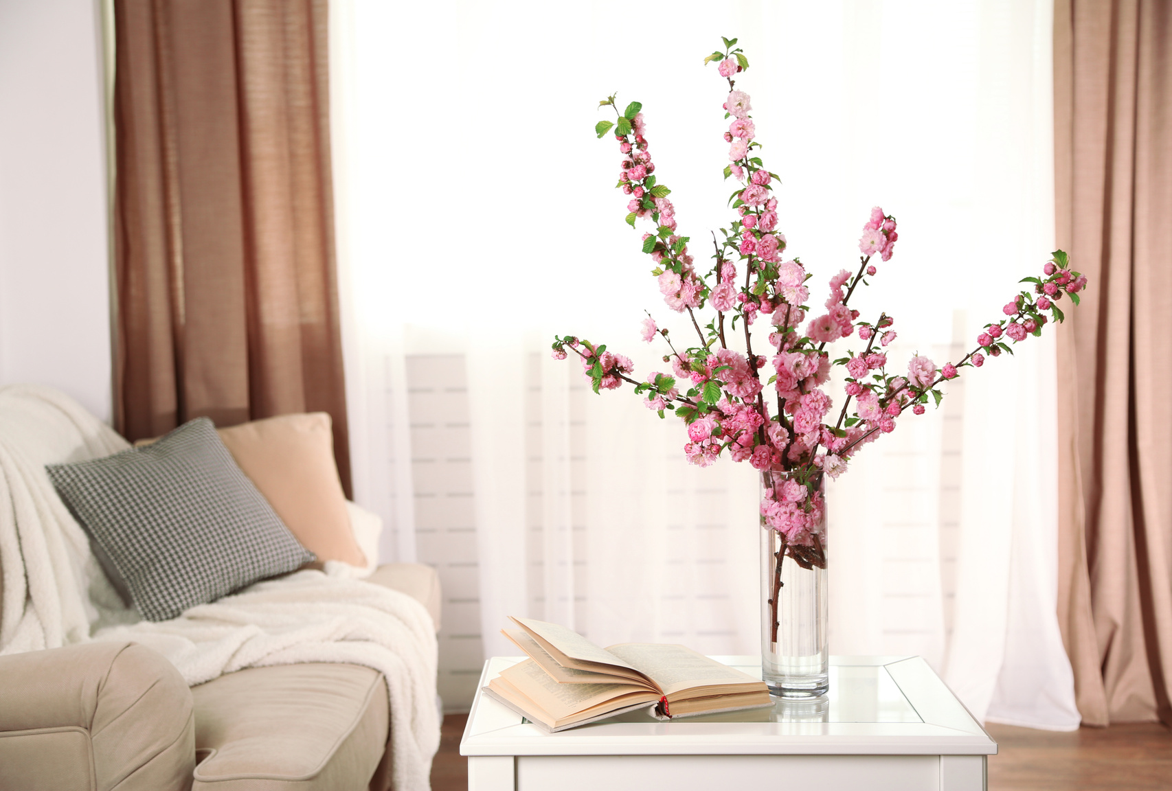
[[[115,0],[116,422],[327,411],[350,493],[326,0]]]

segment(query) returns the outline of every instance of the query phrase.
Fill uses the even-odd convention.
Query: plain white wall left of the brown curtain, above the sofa
[[[110,420],[97,0],[0,0],[0,386]]]

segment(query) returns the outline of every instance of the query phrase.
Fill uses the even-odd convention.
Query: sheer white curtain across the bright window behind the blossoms
[[[721,81],[737,35],[789,251],[813,296],[900,223],[865,314],[892,355],[958,359],[1052,247],[1049,2],[334,4],[335,151],[356,496],[448,601],[458,708],[507,614],[604,645],[757,650],[756,477],[688,468],[684,435],[595,396],[573,333],[662,369],[660,301],[622,224],[597,101],[643,103],[656,175],[703,254],[729,220]],[[1052,349],[954,383],[831,491],[832,650],[922,654],[979,717],[1077,725],[1054,615]]]

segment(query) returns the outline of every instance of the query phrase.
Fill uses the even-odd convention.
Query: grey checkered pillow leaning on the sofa
[[[206,417],[145,448],[46,469],[148,620],[165,621],[316,559]]]

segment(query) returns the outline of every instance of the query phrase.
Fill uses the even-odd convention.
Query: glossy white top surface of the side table
[[[484,663],[483,688],[523,656]],[[755,656],[714,656],[761,677]],[[919,656],[833,656],[830,693],[774,698],[770,709],[684,717],[645,711],[557,734],[477,690],[459,745],[465,756],[524,755],[995,755],[996,743]]]

